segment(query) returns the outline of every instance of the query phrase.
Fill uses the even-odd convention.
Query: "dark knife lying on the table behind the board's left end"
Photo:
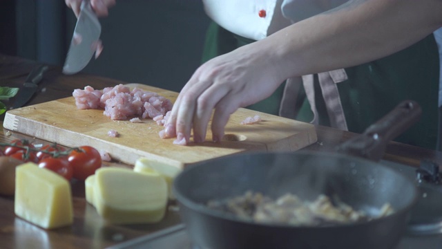
[[[23,86],[19,89],[19,93],[17,93],[17,96],[15,97],[15,102],[12,104],[12,109],[23,107],[23,105],[32,98],[32,95],[37,91],[38,84],[41,82],[44,72],[47,70],[48,66],[44,65],[32,69],[28,77],[26,77]]]

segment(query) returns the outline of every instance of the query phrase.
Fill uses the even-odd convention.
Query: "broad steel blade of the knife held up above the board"
[[[78,73],[89,63],[95,53],[101,33],[102,26],[90,6],[90,1],[83,0],[66,61],[64,62],[64,74]]]

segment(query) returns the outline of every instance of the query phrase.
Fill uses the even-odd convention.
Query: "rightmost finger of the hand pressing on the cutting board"
[[[229,122],[231,113],[234,113],[240,107],[239,99],[238,95],[228,95],[216,104],[211,124],[213,142],[221,141],[224,136],[224,127]]]

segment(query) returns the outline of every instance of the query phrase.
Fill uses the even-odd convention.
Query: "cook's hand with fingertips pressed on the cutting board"
[[[259,41],[206,62],[192,75],[173,105],[166,138],[204,142],[212,115],[212,140],[219,142],[231,113],[263,100],[285,80],[276,49]]]

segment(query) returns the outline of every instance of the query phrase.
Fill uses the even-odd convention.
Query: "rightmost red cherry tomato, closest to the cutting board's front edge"
[[[74,149],[70,152],[68,160],[74,169],[74,178],[82,181],[95,174],[95,170],[102,167],[102,156],[97,149],[90,146],[81,146],[79,149]]]

